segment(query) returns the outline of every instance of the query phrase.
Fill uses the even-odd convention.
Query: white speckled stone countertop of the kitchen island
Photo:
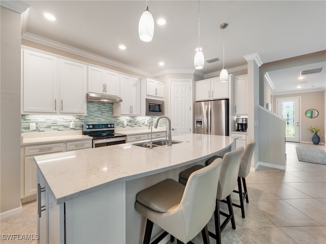
[[[132,143],[35,157],[49,190],[61,204],[113,185],[205,160],[229,148],[234,137],[173,136],[182,141],[152,149]]]

